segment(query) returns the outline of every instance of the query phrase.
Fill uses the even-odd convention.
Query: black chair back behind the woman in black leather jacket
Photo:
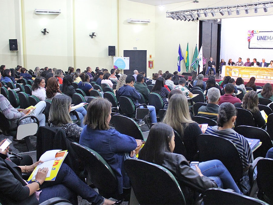
[[[124,166],[139,204],[186,204],[169,170],[140,159],[127,159]]]

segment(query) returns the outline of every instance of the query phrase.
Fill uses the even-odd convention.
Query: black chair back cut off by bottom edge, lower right
[[[205,191],[203,194],[204,204],[211,204],[211,205],[224,205],[224,204],[234,204],[234,205],[241,205],[241,204],[252,204],[252,205],[262,205],[267,204],[261,200],[244,196],[243,194],[235,193],[232,191],[228,191],[225,189],[220,188],[210,188]]]

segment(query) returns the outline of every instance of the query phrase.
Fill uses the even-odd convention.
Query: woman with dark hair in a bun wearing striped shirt
[[[231,140],[231,142],[233,142],[238,149],[244,171],[247,171],[249,164],[253,161],[252,152],[246,138],[233,130],[236,117],[236,108],[233,104],[229,102],[221,104],[217,118],[218,125],[208,127],[205,134],[217,135],[219,137]]]

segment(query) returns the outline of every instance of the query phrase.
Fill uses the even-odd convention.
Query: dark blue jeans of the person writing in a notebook
[[[86,199],[92,204],[103,204],[104,198],[100,196],[95,190],[84,183],[73,172],[73,170],[66,164],[62,164],[60,170],[56,176],[55,181],[44,182],[41,187],[39,202],[42,203],[45,200],[53,197],[64,197],[67,200],[72,200],[72,204],[76,204],[79,195],[83,199]],[[75,199],[75,200],[73,200]]]

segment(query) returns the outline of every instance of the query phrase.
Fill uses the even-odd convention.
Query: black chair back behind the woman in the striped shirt
[[[228,139],[216,135],[201,134],[197,137],[199,162],[220,160],[236,183],[243,176],[243,165],[237,147]]]

